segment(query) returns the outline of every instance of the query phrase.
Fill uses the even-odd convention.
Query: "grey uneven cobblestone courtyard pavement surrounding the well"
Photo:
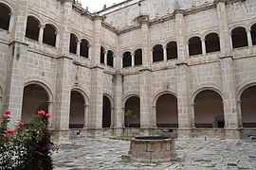
[[[128,141],[110,139],[80,139],[68,144],[56,144],[60,151],[53,154],[58,169],[184,169],[184,170],[256,170],[256,141],[178,139],[176,151],[180,161],[141,163],[123,161],[129,150]]]

